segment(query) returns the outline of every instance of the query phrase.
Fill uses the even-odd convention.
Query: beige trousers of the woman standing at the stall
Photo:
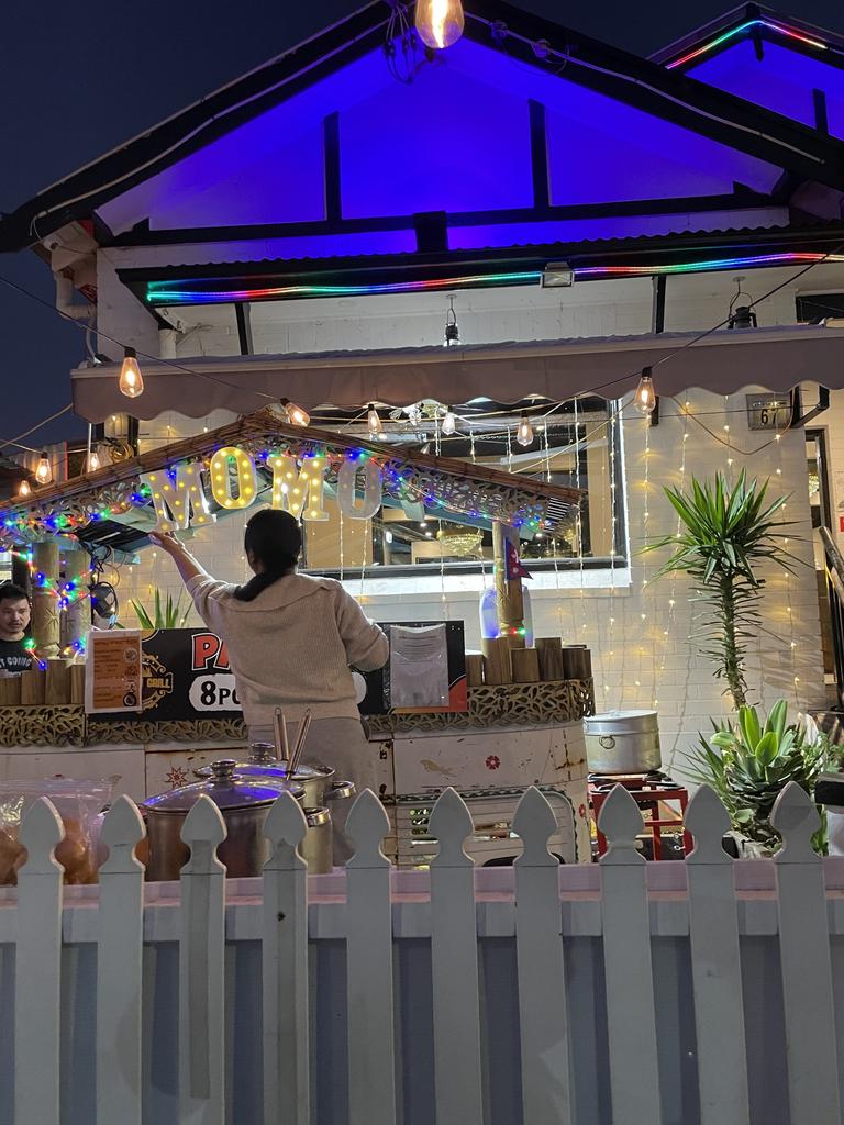
[[[287,740],[293,747],[298,723],[287,724]],[[251,742],[271,742],[270,727],[250,727]],[[302,760],[308,765],[330,766],[335,781],[351,781],[358,793],[365,789],[377,792],[376,755],[359,719],[314,719],[307,732]],[[354,848],[345,835],[345,818],[354,800],[332,801],[329,808],[334,828],[334,866],[342,866],[353,855]]]

